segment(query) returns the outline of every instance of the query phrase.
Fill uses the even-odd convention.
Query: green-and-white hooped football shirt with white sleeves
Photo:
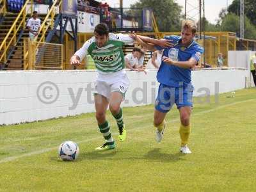
[[[95,67],[101,73],[118,72],[125,68],[123,45],[133,45],[129,35],[109,33],[109,40],[104,47],[97,47],[95,37],[86,41],[75,55],[81,60],[87,55],[92,56]]]

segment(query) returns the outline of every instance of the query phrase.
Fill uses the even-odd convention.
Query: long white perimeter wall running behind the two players
[[[158,86],[156,72],[150,70],[147,75],[143,72],[127,72],[131,86],[124,106],[154,103]],[[95,111],[92,93],[86,91],[86,88],[90,84],[94,87],[96,74],[88,70],[0,72],[0,125]],[[198,70],[193,71],[192,76],[194,96],[205,93],[214,95],[216,89],[224,93],[245,88],[248,70]],[[44,103],[55,98],[56,101],[51,104]]]

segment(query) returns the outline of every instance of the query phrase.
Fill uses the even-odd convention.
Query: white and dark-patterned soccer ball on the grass
[[[79,155],[79,147],[73,141],[65,141],[59,147],[59,156],[64,161],[74,161]]]

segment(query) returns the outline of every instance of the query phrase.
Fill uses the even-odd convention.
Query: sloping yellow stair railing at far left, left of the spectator
[[[31,13],[33,12],[33,0],[27,0],[26,3],[24,3],[22,10],[20,10],[19,15],[13,22],[12,27],[10,28],[3,42],[0,45],[0,63],[6,63],[7,51],[10,49],[11,45],[15,45],[17,43],[16,42],[17,33],[21,28],[22,29],[26,28],[26,16],[27,16],[26,6],[29,5],[29,2],[30,2]],[[20,18],[22,19],[20,20]]]

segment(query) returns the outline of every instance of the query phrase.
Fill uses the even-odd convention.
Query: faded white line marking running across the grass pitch
[[[197,116],[197,115],[202,115],[202,114],[205,114],[205,113],[211,113],[212,111],[217,111],[218,109],[227,108],[229,106],[234,106],[236,104],[241,104],[243,102],[250,102],[252,100],[255,100],[255,99],[248,99],[248,100],[233,102],[233,103],[226,104],[224,106],[220,106],[220,107],[217,107],[217,108],[213,108],[213,109],[209,109],[209,110],[205,110],[205,111],[200,111],[200,112],[194,113],[192,115]],[[180,118],[175,118],[175,119],[171,120],[170,122],[177,122],[179,119]],[[132,129],[129,129],[129,130],[131,131]],[[113,135],[116,135],[116,134],[114,133]],[[89,142],[89,141],[99,140],[101,138],[102,138],[102,136],[99,136],[97,138],[92,138],[92,139],[89,139],[89,140],[78,141],[77,143],[86,143],[86,142]],[[58,147],[44,148],[42,150],[36,150],[36,151],[29,152],[29,153],[26,153],[26,154],[22,154],[22,155],[19,155],[19,156],[6,157],[6,158],[0,160],[0,164],[10,162],[10,161],[14,161],[14,160],[22,158],[22,157],[28,157],[28,156],[33,156],[33,155],[37,155],[37,154],[44,154],[45,152],[49,152],[51,150],[56,150],[57,148]]]

